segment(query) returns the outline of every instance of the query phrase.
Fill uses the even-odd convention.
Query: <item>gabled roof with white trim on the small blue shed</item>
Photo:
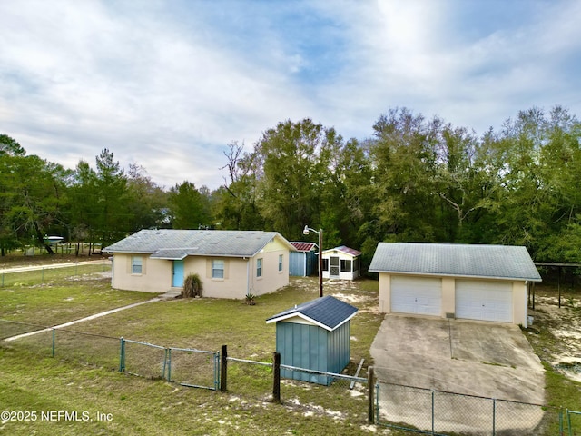
[[[358,311],[347,302],[341,302],[331,295],[303,302],[287,311],[271,316],[266,323],[284,321],[293,317],[300,317],[312,322],[328,331],[333,331],[340,325],[348,322]]]

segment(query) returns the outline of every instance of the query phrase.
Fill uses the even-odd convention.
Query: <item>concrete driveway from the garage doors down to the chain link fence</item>
[[[386,315],[371,345],[379,381],[544,403],[544,368],[516,325]]]

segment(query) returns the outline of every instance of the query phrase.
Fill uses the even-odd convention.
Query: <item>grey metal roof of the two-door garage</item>
[[[369,272],[541,282],[527,248],[513,245],[379,243]]]

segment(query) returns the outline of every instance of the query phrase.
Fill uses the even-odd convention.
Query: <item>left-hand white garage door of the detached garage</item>
[[[425,277],[391,277],[391,312],[441,315],[442,281]]]

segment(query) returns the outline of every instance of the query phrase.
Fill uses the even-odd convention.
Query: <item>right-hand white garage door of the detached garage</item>
[[[512,322],[512,283],[457,280],[456,317]]]

